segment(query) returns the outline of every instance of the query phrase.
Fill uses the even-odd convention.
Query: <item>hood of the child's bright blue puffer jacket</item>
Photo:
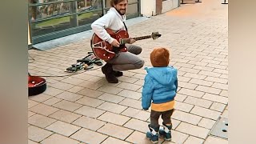
[[[154,81],[162,85],[170,85],[176,80],[177,70],[172,66],[146,68],[146,71]]]

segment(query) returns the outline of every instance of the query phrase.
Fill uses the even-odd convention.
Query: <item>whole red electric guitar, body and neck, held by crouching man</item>
[[[106,32],[110,34],[112,38],[115,38],[120,43],[119,47],[111,46],[109,42],[103,41],[101,38],[98,37],[97,34],[94,34],[91,39],[91,48],[94,51],[94,54],[96,57],[108,61],[112,58],[114,58],[115,54],[118,51],[126,52],[127,48],[125,46],[126,43],[130,43],[130,39],[135,39],[136,41],[147,39],[147,38],[159,38],[161,37],[161,34],[158,34],[158,32],[154,32],[151,35],[146,35],[142,37],[136,37],[136,38],[129,38],[129,34],[126,30],[119,30],[118,32],[114,33],[110,29],[106,29]]]

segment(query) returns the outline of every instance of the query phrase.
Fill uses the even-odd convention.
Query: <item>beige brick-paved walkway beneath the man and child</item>
[[[227,5],[215,0],[182,5],[176,10],[130,26],[131,36],[158,31],[161,38],[136,42],[150,66],[154,47],[171,52],[178,68],[178,94],[172,142],[228,143],[209,136],[220,115],[228,113]],[[65,75],[68,66],[90,51],[90,38],[46,51],[29,50],[32,75]],[[29,143],[150,143],[150,112],[143,111],[141,92],[146,71],[129,70],[118,84],[106,82],[100,67],[65,77],[44,77],[47,90],[29,97]],[[82,72],[82,71],[81,71]],[[161,120],[160,120],[161,122]],[[159,142],[159,143],[160,143]]]

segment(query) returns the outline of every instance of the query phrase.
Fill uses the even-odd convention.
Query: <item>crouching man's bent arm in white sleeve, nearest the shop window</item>
[[[108,34],[105,29],[108,28],[112,22],[114,22],[114,15],[105,14],[101,18],[98,18],[96,21],[94,21],[91,24],[91,28],[99,38],[111,43],[114,41],[114,38],[111,38],[110,34]]]

